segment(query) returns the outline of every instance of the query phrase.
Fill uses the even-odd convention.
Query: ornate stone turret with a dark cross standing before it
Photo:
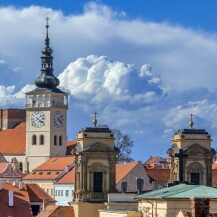
[[[197,185],[212,186],[212,159],[215,154],[211,148],[211,135],[204,129],[178,130],[172,138],[168,150],[171,159],[171,181],[189,182]]]

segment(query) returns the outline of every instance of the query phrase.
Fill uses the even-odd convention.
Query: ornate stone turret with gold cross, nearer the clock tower
[[[75,202],[103,202],[115,192],[118,150],[107,127],[87,127],[77,134],[75,156]]]

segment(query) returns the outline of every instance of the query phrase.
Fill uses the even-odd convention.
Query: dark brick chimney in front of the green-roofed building
[[[192,197],[191,213],[194,217],[209,217],[209,198]]]

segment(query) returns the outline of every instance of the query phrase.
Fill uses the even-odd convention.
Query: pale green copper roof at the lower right
[[[217,189],[204,185],[179,184],[138,195],[135,199],[187,199],[191,197],[207,197],[217,199]]]

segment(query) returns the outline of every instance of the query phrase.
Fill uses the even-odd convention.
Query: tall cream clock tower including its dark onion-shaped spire
[[[58,89],[59,79],[53,74],[53,50],[46,25],[42,49],[41,74],[36,88],[26,93],[26,171],[50,157],[66,154],[66,120],[68,95]]]

